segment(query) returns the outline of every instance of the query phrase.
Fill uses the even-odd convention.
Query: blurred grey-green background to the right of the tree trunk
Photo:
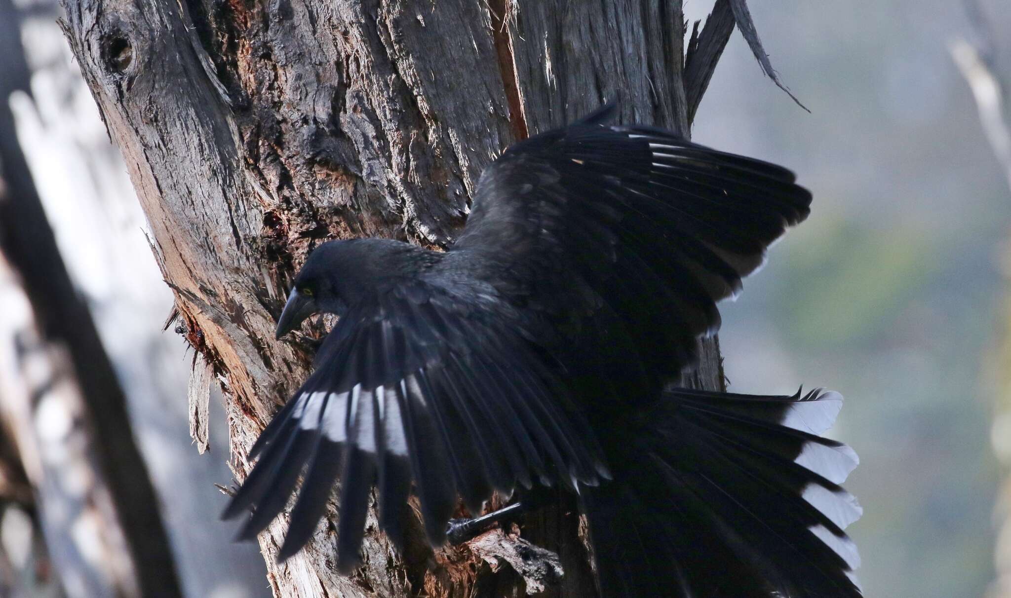
[[[708,4],[690,2],[688,16]],[[860,457],[847,488],[864,511],[849,531],[868,596],[1011,596],[991,586],[1011,192],[949,51],[976,44],[1011,81],[1011,4],[750,8],[773,67],[811,114],[735,34],[694,139],[787,166],[815,200],[721,307],[731,389],[792,393],[803,383],[846,397],[833,435]],[[1006,451],[1011,426],[994,439]]]

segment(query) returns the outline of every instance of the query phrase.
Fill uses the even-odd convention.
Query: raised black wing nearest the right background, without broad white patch
[[[601,124],[609,110],[511,146],[450,256],[546,314],[545,331],[636,354],[655,392],[696,363],[697,337],[720,325],[716,301],[807,217],[811,194],[778,166]]]

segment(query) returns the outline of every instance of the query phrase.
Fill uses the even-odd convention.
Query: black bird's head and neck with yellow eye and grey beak
[[[277,338],[316,313],[344,315],[348,308],[397,277],[425,268],[438,256],[422,247],[386,238],[353,238],[325,242],[309,254],[295,277],[281,317]]]

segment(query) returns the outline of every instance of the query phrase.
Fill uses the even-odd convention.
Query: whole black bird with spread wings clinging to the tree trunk
[[[340,478],[339,567],[359,563],[368,496],[399,545],[418,495],[433,545],[462,498],[563,487],[607,597],[859,596],[855,467],[819,437],[841,397],[669,390],[697,339],[811,195],[780,167],[606,106],[511,146],[445,253],[363,238],[308,258],[278,337],[340,316],[314,372],[250,451],[225,516],[253,537],[304,470],[279,559]]]

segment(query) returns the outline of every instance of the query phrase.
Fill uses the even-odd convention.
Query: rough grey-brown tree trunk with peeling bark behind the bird
[[[63,4],[187,338],[223,381],[239,479],[325,330],[317,322],[294,340],[273,334],[311,247],[365,235],[447,245],[497,154],[606,100],[621,100],[623,120],[687,135],[686,98],[694,112],[733,23],[720,0],[722,20],[693,35],[685,66],[679,1]],[[695,82],[687,91],[684,69]],[[705,356],[688,382],[721,388],[715,341]],[[591,596],[578,517],[559,500],[530,517],[523,535],[559,553],[565,574],[549,592]],[[364,567],[341,577],[331,506],[329,523],[284,564],[274,563],[284,517],[260,535],[275,595],[523,591],[518,576],[493,574],[468,546],[433,553],[420,529],[398,555],[374,517]]]

